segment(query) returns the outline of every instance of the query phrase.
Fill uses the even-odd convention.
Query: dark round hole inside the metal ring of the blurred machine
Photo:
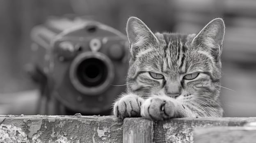
[[[76,74],[82,85],[93,87],[104,83],[107,72],[107,66],[102,60],[89,58],[78,65]]]

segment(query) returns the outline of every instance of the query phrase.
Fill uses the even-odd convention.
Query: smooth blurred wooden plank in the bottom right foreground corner
[[[208,127],[194,130],[194,143],[255,143],[256,127]]]

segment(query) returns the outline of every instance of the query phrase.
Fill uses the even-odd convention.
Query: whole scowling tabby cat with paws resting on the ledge
[[[183,117],[222,117],[222,18],[198,34],[155,33],[136,17],[126,32],[130,43],[127,93],[113,105],[117,118],[154,121]]]

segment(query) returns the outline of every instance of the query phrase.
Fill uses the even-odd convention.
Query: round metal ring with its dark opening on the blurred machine
[[[73,87],[85,95],[98,95],[114,80],[110,58],[100,52],[82,52],[71,63],[69,78]]]

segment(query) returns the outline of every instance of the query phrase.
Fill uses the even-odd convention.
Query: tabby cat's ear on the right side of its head
[[[194,37],[192,44],[203,47],[203,49],[208,49],[215,57],[216,62],[218,62],[222,53],[224,34],[224,21],[222,18],[215,18],[203,27],[197,36]]]

